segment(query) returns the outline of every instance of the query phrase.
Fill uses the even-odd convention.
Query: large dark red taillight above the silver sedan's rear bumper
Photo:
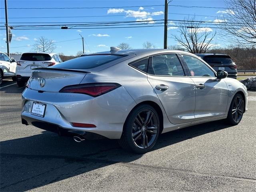
[[[107,92],[110,92],[120,86],[121,85],[117,83],[89,83],[89,84],[66,86],[62,88],[59,92],[80,93],[80,94],[90,95],[92,97],[97,97]]]

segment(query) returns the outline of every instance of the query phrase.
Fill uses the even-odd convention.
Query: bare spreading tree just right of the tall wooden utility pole
[[[205,53],[215,44],[212,40],[216,35],[211,28],[200,27],[200,24],[194,18],[185,18],[185,21],[179,24],[179,35],[172,35],[174,40],[190,53]]]

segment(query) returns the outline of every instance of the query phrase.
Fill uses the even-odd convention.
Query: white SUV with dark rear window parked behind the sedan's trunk
[[[17,62],[16,79],[18,86],[24,86],[31,76],[32,69],[49,67],[61,63],[56,53],[23,53]]]

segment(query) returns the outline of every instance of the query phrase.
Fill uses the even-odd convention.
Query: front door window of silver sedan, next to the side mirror
[[[182,57],[184,58],[188,66],[189,76],[215,77],[215,73],[198,58],[195,58],[190,55],[182,55]]]

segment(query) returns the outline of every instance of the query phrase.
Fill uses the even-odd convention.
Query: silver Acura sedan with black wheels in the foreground
[[[119,139],[151,150],[160,133],[226,119],[247,110],[246,87],[227,72],[177,50],[118,50],[36,68],[22,93],[22,124],[75,141]]]

